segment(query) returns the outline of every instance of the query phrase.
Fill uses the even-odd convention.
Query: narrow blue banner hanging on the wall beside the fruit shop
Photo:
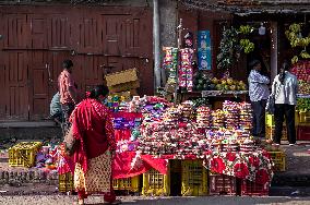
[[[210,31],[198,32],[199,70],[211,70],[211,37]]]

